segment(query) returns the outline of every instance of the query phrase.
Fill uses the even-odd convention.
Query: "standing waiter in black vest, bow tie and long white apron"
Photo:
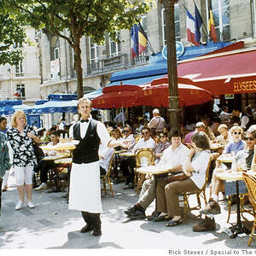
[[[73,165],[70,174],[69,209],[79,210],[86,225],[81,233],[92,230],[91,235],[102,235],[101,181],[99,166],[99,146],[119,146],[112,140],[106,127],[91,118],[91,102],[86,97],[80,98],[78,111],[81,119],[70,127],[69,135],[79,144],[73,150]]]

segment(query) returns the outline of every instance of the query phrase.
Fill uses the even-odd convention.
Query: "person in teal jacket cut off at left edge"
[[[6,171],[9,171],[10,163],[9,163],[9,148],[7,147],[6,137],[3,133],[0,132],[0,188],[2,186],[3,176]],[[2,190],[0,189],[0,218],[1,218],[1,198],[2,198]]]

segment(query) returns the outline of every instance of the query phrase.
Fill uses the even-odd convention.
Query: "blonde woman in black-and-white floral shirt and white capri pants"
[[[14,113],[11,128],[7,131],[7,137],[13,149],[13,167],[20,200],[15,209],[25,207],[24,192],[26,190],[27,207],[33,208],[32,204],[32,176],[33,167],[37,164],[32,142],[40,143],[32,126],[26,124],[26,114],[18,110]]]

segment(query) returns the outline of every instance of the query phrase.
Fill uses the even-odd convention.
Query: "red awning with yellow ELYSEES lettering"
[[[178,64],[177,75],[192,79],[213,96],[253,93],[256,92],[256,50],[185,61]]]

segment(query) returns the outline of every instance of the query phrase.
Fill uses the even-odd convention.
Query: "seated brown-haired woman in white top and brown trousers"
[[[192,148],[190,148],[189,156],[182,167],[187,178],[171,183],[160,181],[157,184],[157,212],[166,212],[167,208],[170,219],[166,224],[167,227],[183,222],[179,213],[178,196],[184,192],[200,191],[206,180],[207,166],[210,160],[210,140],[205,132],[199,131],[191,137],[191,143]],[[163,197],[166,198],[166,203],[163,201]]]

